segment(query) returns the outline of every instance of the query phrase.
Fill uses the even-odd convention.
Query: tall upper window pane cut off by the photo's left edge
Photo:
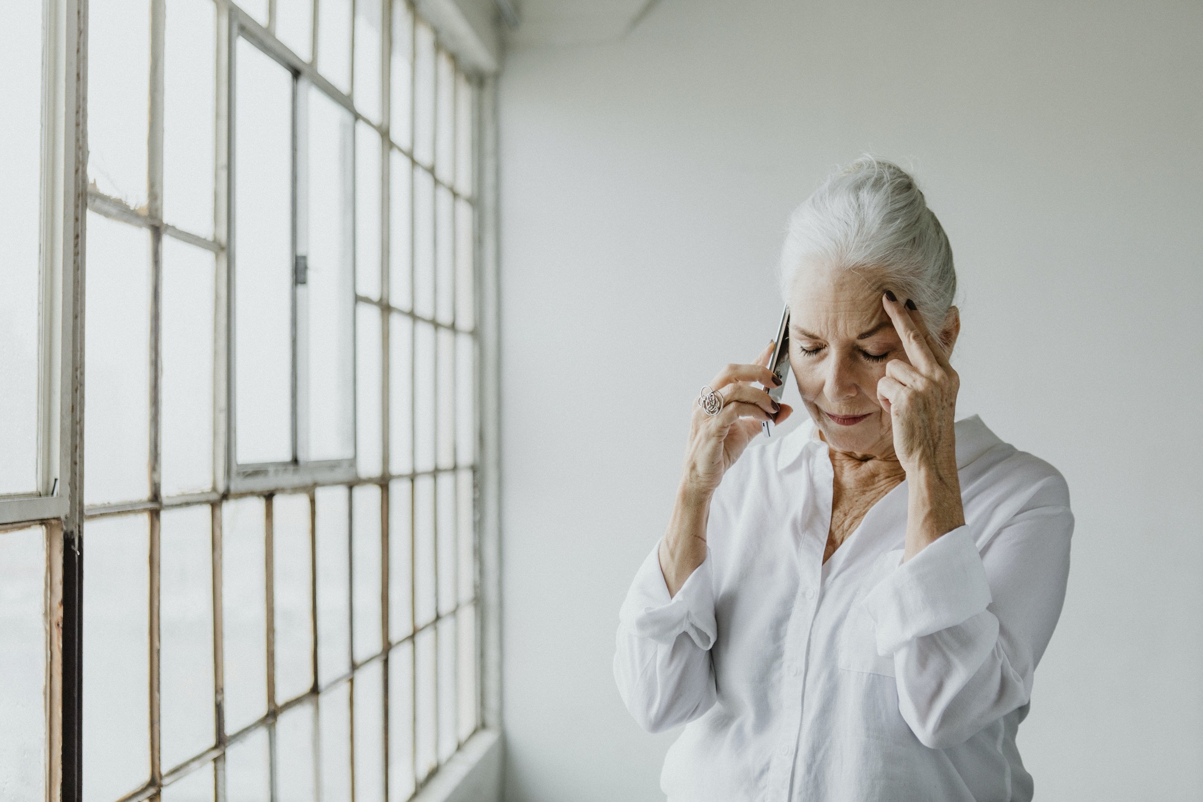
[[[42,4],[5,5],[0,47],[0,494],[36,489]]]

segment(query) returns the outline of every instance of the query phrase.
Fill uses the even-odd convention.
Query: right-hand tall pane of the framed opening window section
[[[355,456],[350,112],[309,90],[308,459]]]

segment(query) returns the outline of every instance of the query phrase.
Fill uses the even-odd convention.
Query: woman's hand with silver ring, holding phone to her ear
[[[769,343],[752,364],[729,364],[715,376],[710,387],[723,397],[718,415],[707,415],[694,404],[681,476],[685,494],[709,500],[727,469],[760,432],[760,422],[781,423],[793,412],[789,404],[777,404],[768,392],[753,385],[775,387],[781,384],[766,367],[774,343]]]

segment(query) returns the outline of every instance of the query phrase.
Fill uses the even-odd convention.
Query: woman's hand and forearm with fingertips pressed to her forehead
[[[909,485],[906,560],[965,524],[954,429],[960,376],[923,315],[888,296],[882,304],[911,362],[890,360],[877,382],[877,400],[890,414],[894,452]]]

